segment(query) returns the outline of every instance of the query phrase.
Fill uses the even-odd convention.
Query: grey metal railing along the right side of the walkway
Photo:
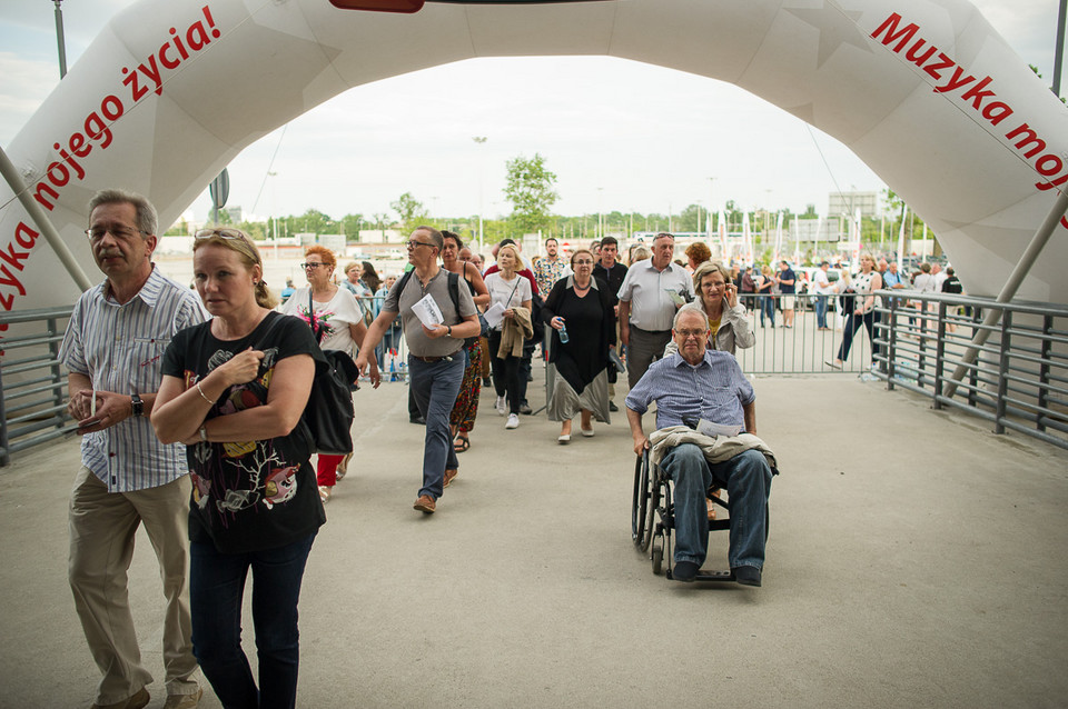
[[[906,301],[902,291],[893,292],[877,324],[881,351],[872,370],[888,389],[978,416],[993,423],[995,433],[1008,429],[1068,448],[1068,307],[911,292]],[[1002,311],[1000,322],[985,326],[982,310]],[[969,363],[965,353],[980,330],[989,330],[990,340]],[[966,376],[946,396],[958,367]]]

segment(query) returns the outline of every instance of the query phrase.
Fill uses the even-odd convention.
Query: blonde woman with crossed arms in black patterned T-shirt
[[[224,707],[258,707],[260,697],[293,707],[297,600],[326,522],[300,426],[323,353],[306,326],[271,311],[259,252],[244,232],[197,232],[192,268],[211,320],[167,347],[151,420],[161,441],[187,446],[194,653]],[[249,571],[258,686],[241,648]]]

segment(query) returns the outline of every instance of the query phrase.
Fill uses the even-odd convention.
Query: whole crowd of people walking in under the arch
[[[152,678],[125,580],[141,525],[167,602],[164,706],[198,706],[198,666],[225,707],[295,706],[300,586],[324,506],[353,457],[316,455],[301,417],[325,353],[350,357],[377,388],[384,348],[403,338],[411,418],[425,426],[412,507],[427,516],[473,445],[484,386],[494,389],[504,430],[516,429],[533,413],[527,383],[541,348],[546,413],[560,423],[556,442],[567,445],[576,418],[584,438],[595,435],[594,421],[611,422],[625,373],[634,450],[657,451],[676,486],[674,578],[696,578],[712,517],[708,497],[723,486],[742,511],[731,525],[733,578],[760,586],[774,459],[755,439],[755,392],[734,357],[755,343],[749,308],[772,324],[781,308],[790,328],[803,289],[828,299],[848,293],[841,366],[853,334],[861,327],[871,334],[873,291],[907,287],[896,268],[880,274],[871,257],[856,277],[843,271],[834,282],[828,263],[810,281],[787,261],[777,272],[732,268],[701,243],[676,260],[671,233],[634,244],[625,263],[612,237],[566,256],[548,239],[533,260],[506,239],[486,268],[458,234],[422,226],[406,243],[406,272],[384,281],[367,261],[338,270],[337,254],[308,247],[307,284],[287,282],[279,302],[256,244],[239,230],[196,233],[189,290],[152,263],[158,224],[148,200],[106,190],[89,214],[86,233],[105,280],[75,306],[60,359],[68,411],[82,436],[69,580],[101,673],[93,707],[105,708],[149,701]],[[959,281],[948,269],[939,283],[924,268],[909,286],[948,290]],[[768,292],[775,298],[760,297]],[[765,311],[758,301],[774,304]],[[829,329],[827,313],[818,301],[820,329]],[[646,437],[642,417],[654,402],[657,431]],[[749,438],[709,457],[708,441],[689,430],[692,417]],[[680,427],[684,441],[665,447],[657,435]],[[241,647],[249,572],[258,677]]]

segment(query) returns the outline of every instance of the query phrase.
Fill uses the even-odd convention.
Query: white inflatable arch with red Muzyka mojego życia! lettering
[[[472,0],[403,14],[328,0],[142,0],[8,153],[97,280],[82,234],[97,189],[140,191],[170,223],[241,149],[346,89],[474,57],[547,54],[730,81],[834,136],[933,228],[972,293],[997,293],[1068,181],[1068,109],[966,0]],[[73,302],[78,288],[2,189],[0,307]],[[1062,220],[1021,298],[1068,301],[1066,233]]]

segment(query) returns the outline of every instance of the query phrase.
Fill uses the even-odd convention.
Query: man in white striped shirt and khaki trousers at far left
[[[196,707],[187,586],[189,476],[184,446],[164,446],[148,415],[170,338],[204,321],[188,288],[152,266],[156,209],[140,194],[105,190],[86,230],[107,279],[82,293],[60,349],[78,421],[81,470],[70,498],[69,580],[75,608],[103,676],[93,707],[139,709],[152,677],[141,667],[127,593],[134,538],[145,526],[159,560],[167,609],[167,709]]]

